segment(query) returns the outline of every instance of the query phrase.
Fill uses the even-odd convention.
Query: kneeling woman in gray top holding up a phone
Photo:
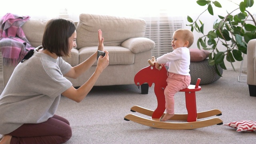
[[[101,30],[98,40],[98,50],[103,51]],[[97,51],[72,67],[61,56],[70,56],[75,46],[76,27],[72,22],[53,19],[47,23],[42,46],[18,64],[0,96],[0,144],[60,144],[71,138],[68,120],[54,114],[60,95],[81,102],[109,62],[104,51],[106,55],[98,58],[95,72],[76,89],[64,76],[78,78],[94,64]]]

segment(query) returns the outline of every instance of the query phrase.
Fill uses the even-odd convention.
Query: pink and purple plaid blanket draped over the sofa
[[[34,49],[21,28],[29,18],[11,13],[1,18],[0,49],[4,64],[18,64],[29,50]]]

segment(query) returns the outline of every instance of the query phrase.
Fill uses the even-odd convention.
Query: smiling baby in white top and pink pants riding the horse
[[[174,95],[190,85],[189,74],[190,52],[188,48],[194,42],[194,35],[190,30],[178,29],[173,33],[172,52],[156,59],[156,68],[169,66],[167,86],[164,90],[166,114],[162,118],[165,122],[174,116]]]

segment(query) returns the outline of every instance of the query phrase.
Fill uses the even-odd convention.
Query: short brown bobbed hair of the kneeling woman
[[[49,20],[44,29],[42,45],[57,56],[70,56],[69,40],[75,32],[73,22],[62,18]]]

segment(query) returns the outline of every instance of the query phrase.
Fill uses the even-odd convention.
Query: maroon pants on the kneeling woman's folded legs
[[[54,115],[46,122],[23,124],[10,134],[10,144],[61,144],[72,136],[68,120]]]

